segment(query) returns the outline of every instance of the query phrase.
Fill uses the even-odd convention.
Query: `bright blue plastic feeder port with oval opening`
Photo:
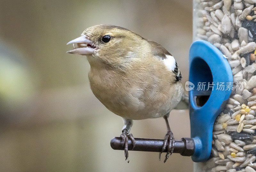
[[[233,75],[220,50],[203,40],[191,45],[189,65],[189,81],[195,85],[189,91],[191,138],[195,143],[192,160],[199,162],[210,157],[213,124],[232,91],[220,89],[220,84],[233,84]]]

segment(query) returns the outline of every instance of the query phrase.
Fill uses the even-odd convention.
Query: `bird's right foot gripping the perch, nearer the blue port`
[[[164,162],[166,162],[166,160],[169,158],[169,155],[171,155],[173,153],[173,149],[174,149],[174,137],[173,137],[173,133],[171,130],[168,130],[167,134],[164,136],[164,145],[159,154],[159,161],[161,160],[161,154],[164,152],[166,147],[167,147],[167,153],[165,155]]]

